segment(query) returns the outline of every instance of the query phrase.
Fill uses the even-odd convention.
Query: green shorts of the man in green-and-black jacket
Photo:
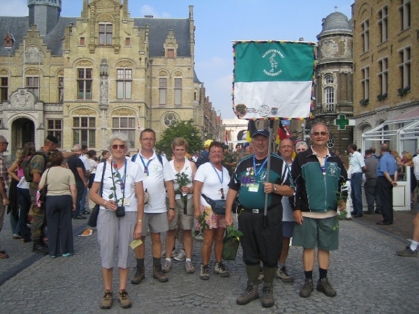
[[[333,228],[335,227],[335,230]],[[304,217],[302,225],[295,224],[293,246],[303,248],[321,248],[334,251],[339,247],[339,220],[337,216],[330,218]]]

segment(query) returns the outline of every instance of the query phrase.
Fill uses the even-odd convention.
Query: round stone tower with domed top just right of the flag
[[[346,15],[334,12],[323,19],[322,27],[317,36],[316,107],[313,115],[316,122],[329,126],[329,148],[345,151],[353,142],[353,126],[348,126],[348,119],[353,117],[352,26]]]

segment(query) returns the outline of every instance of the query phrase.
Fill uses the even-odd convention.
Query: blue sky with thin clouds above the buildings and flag
[[[187,18],[193,6],[196,74],[215,110],[234,117],[231,100],[233,40],[316,42],[321,20],[330,13],[351,18],[354,0],[131,0],[131,17]],[[61,16],[80,17],[82,0],[61,0]],[[335,9],[335,6],[337,8]],[[27,0],[0,0],[0,15],[27,16]],[[175,34],[176,35],[176,34]]]

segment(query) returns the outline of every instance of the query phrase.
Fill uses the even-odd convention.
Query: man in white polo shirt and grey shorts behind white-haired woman
[[[144,172],[146,179],[142,182],[144,190],[148,193],[148,199],[144,207],[142,218],[142,242],[145,242],[147,231],[152,237],[153,253],[153,278],[161,283],[168,281],[166,274],[161,270],[161,232],[169,229],[169,222],[175,217],[175,188],[173,186],[175,175],[170,170],[170,165],[166,158],[156,154],[154,144],[156,143],[156,133],[151,128],[146,128],[140,133],[141,149],[138,154],[131,159],[138,163]],[[166,207],[166,191],[169,197],[169,211]],[[145,244],[137,246],[135,249],[137,267],[131,283],[138,284],[145,278],[144,257]]]

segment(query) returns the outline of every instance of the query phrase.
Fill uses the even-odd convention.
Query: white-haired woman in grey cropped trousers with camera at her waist
[[[110,135],[108,146],[112,158],[98,164],[90,190],[90,199],[101,205],[97,220],[105,286],[101,308],[112,306],[112,271],[115,266],[119,268],[119,303],[122,308],[132,305],[126,292],[128,266],[133,253],[129,244],[141,237],[144,211],[142,181],[145,177],[140,167],[125,157],[127,143],[128,137],[122,133]]]

